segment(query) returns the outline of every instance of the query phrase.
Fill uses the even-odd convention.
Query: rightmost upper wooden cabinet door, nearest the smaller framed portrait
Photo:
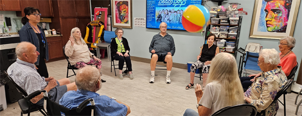
[[[74,0],[77,17],[90,16],[89,0]]]

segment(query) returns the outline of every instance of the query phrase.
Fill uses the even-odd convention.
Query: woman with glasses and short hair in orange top
[[[297,65],[297,57],[291,50],[295,46],[295,39],[292,36],[285,36],[280,38],[280,42],[278,42],[280,63],[278,65],[282,66],[282,70],[285,75],[288,76],[290,71],[294,66]],[[251,74],[246,77],[240,77],[242,82],[242,86],[244,89],[248,89],[249,86],[255,81],[256,77],[259,77],[261,73]]]

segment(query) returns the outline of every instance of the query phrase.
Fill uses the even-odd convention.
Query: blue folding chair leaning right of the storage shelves
[[[261,71],[257,63],[258,57],[259,57],[259,53],[249,52],[249,51],[246,52],[245,61],[243,61],[244,66],[243,66],[242,75],[245,73],[246,74],[245,76],[247,76],[247,74],[254,74]]]

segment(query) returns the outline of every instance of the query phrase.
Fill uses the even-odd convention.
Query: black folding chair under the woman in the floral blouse
[[[285,94],[287,94],[287,89],[288,87],[292,84],[292,81],[291,79],[287,80],[286,84],[283,86],[283,88],[277,93],[277,95],[275,96],[275,99],[272,101],[272,103],[275,103],[275,102],[280,102],[283,106],[284,106],[284,116],[286,116],[286,104],[285,104]],[[283,94],[283,103],[278,99],[281,95]],[[277,101],[278,100],[278,101]],[[271,104],[272,104],[271,103]],[[271,105],[270,104],[270,105]],[[260,112],[260,115],[265,115],[265,109],[262,110]]]

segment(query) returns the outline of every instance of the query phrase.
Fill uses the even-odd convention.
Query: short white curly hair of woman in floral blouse
[[[264,58],[265,63],[270,63],[273,65],[277,65],[280,63],[279,52],[274,48],[262,49],[259,53],[259,56],[262,56]]]

